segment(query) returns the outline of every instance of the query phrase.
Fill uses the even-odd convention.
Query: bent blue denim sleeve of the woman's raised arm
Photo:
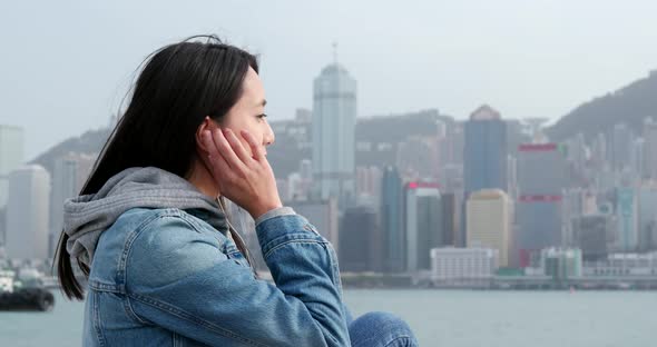
[[[274,284],[222,252],[190,217],[161,216],[126,256],[136,319],[210,346],[349,346],[335,252],[294,214],[258,220]]]

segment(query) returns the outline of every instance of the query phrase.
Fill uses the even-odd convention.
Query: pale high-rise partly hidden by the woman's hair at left
[[[96,156],[80,153],[69,153],[55,160],[50,194],[51,256],[56,246],[55,237],[59,236],[63,227],[63,201],[80,194],[95,161]]]

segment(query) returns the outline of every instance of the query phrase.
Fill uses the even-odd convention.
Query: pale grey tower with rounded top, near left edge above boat
[[[9,174],[7,256],[48,259],[50,175],[41,166],[24,166]]]

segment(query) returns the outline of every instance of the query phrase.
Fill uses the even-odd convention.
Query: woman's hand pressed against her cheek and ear
[[[257,219],[283,204],[262,146],[246,130],[242,130],[242,137],[249,145],[253,157],[231,129],[215,128],[202,133],[208,149],[209,168],[220,194]]]

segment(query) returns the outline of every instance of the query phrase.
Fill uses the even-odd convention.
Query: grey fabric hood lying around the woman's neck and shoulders
[[[110,178],[97,194],[63,204],[67,251],[90,266],[100,234],[137,207],[199,210],[206,222],[224,235],[228,232],[219,205],[184,178],[154,167],[129,168]]]

